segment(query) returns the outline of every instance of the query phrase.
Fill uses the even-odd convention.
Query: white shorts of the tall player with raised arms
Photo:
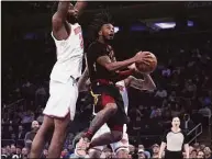
[[[53,117],[65,117],[70,113],[70,120],[75,117],[78,88],[75,79],[70,78],[66,83],[51,80],[49,99],[44,114]]]

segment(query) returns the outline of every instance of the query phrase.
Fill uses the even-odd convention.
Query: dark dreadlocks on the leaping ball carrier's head
[[[107,12],[102,11],[94,15],[93,21],[88,27],[89,42],[96,41],[98,38],[98,32],[101,30],[103,24],[113,23],[112,16]]]

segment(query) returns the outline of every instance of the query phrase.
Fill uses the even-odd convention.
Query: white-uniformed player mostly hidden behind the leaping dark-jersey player
[[[80,83],[79,91],[85,90],[86,86],[82,88],[81,82],[86,81],[86,78],[83,78],[83,76],[86,77],[86,71],[83,72],[82,77],[79,80],[79,83]],[[124,110],[125,110],[126,114],[127,114],[127,109],[129,109],[129,96],[127,96],[127,88],[129,87],[138,89],[141,91],[143,91],[143,90],[149,90],[150,91],[150,90],[156,89],[156,86],[155,86],[153,79],[150,78],[150,76],[145,75],[145,73],[143,76],[144,76],[144,80],[143,79],[136,79],[135,77],[130,76],[125,80],[116,82],[116,87],[120,88],[120,93],[121,93],[123,102],[124,102]],[[89,82],[87,81],[87,83],[89,83]],[[93,115],[96,115],[94,106],[93,106]],[[101,135],[103,135],[104,133],[109,133],[109,132],[110,132],[110,128],[108,127],[107,124],[104,124],[94,134],[92,139],[96,139],[96,138],[100,137]],[[115,152],[118,158],[127,158],[129,157],[129,135],[126,134],[126,124],[123,125],[123,138],[122,138],[122,140],[111,144],[111,147],[112,147],[113,152]],[[97,146],[97,147],[89,149],[89,157],[90,158],[100,158],[103,148],[104,148],[104,146]],[[75,154],[77,155],[78,152],[76,151]]]

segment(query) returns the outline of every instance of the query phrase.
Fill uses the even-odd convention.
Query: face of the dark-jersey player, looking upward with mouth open
[[[114,26],[112,24],[103,24],[101,31],[99,32],[100,36],[103,36],[105,39],[113,39],[114,37]]]

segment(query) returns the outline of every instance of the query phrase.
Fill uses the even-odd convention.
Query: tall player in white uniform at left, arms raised
[[[59,1],[52,18],[57,61],[51,73],[49,99],[43,112],[44,122],[32,143],[30,158],[40,158],[51,137],[47,158],[60,157],[78,98],[76,79],[81,76],[83,41],[77,18],[83,7],[86,2],[77,2],[74,7],[69,1]]]

